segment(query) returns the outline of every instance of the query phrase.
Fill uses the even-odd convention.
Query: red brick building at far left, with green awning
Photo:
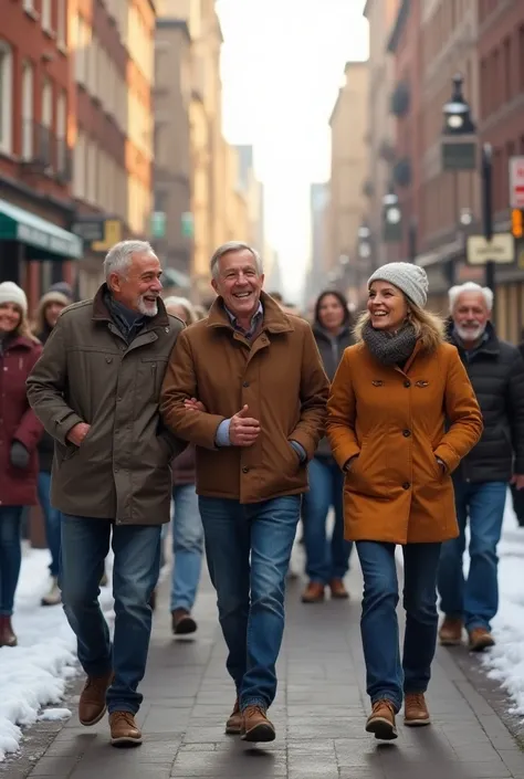
[[[10,0],[0,24],[0,278],[42,290],[72,281],[74,112],[65,0]]]

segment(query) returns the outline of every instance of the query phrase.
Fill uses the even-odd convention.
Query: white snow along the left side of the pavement
[[[62,703],[67,681],[77,674],[76,640],[62,607],[40,606],[50,587],[48,566],[48,550],[24,549],[13,617],[19,645],[0,649],[0,761],[17,751],[24,726],[71,715],[64,708],[42,712]],[[102,590],[101,603],[113,622],[107,587]]]

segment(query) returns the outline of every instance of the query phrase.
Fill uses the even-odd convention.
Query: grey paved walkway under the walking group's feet
[[[76,714],[29,773],[54,779],[524,779],[524,752],[497,714],[446,650],[439,650],[429,704],[433,725],[380,744],[364,731],[367,714],[359,636],[360,577],[350,602],[304,606],[301,581],[290,583],[280,687],[271,718],[277,738],[249,747],[226,736],[233,704],[216,600],[202,583],[195,640],[170,634],[167,585],[159,608],[139,722],[144,745],[108,745],[107,722],[82,728]],[[25,750],[28,747],[25,747]],[[27,764],[25,764],[27,765]],[[29,769],[28,769],[29,770]],[[19,779],[22,760],[1,777]]]

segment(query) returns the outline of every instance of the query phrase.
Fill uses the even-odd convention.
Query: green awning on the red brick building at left
[[[82,240],[46,219],[0,200],[0,241],[20,241],[65,260],[82,257]]]

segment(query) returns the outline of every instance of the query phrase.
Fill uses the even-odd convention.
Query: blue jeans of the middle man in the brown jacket
[[[268,708],[276,694],[275,664],[284,633],[285,577],[301,514],[301,496],[242,505],[200,497],[200,516],[227,669],[241,708]],[[251,561],[250,561],[251,557]],[[251,597],[250,597],[251,596]]]

